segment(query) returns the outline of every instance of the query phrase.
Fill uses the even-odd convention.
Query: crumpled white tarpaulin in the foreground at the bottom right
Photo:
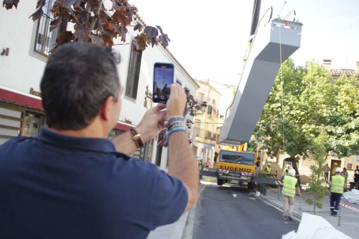
[[[341,231],[335,229],[321,216],[303,213],[298,231],[291,231],[282,236],[282,239],[351,239]]]

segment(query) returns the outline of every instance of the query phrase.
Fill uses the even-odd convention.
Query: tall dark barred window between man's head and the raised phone
[[[142,51],[136,53],[131,52],[129,72],[127,74],[127,83],[126,83],[126,95],[136,99],[137,98],[137,88],[138,80],[140,78],[140,68],[141,68],[141,58]]]

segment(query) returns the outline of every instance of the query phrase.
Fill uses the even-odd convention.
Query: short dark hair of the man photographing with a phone
[[[57,130],[88,126],[108,96],[118,100],[120,80],[109,48],[67,43],[53,52],[41,79],[46,124]]]

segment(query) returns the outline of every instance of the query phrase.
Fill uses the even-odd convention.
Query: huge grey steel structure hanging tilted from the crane
[[[221,144],[238,146],[250,140],[281,63],[300,47],[302,25],[279,18],[258,24],[232,109],[221,128]]]

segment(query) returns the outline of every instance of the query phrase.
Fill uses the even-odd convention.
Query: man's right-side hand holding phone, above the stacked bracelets
[[[175,115],[183,115],[187,104],[186,93],[182,90],[181,85],[173,83],[171,85],[171,93],[167,101],[167,118]]]

